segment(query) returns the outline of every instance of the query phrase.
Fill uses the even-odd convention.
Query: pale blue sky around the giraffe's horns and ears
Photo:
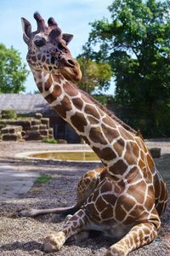
[[[27,48],[22,39],[20,17],[29,20],[32,30],[36,30],[33,13],[38,11],[46,20],[54,16],[63,32],[74,35],[70,49],[76,57],[82,51],[82,44],[87,42],[89,22],[109,18],[107,7],[111,3],[112,0],[0,0],[0,43],[7,47],[13,45],[26,63]],[[26,81],[26,92],[34,90],[37,90],[37,86],[30,74]],[[113,92],[114,84],[111,84],[109,93]]]

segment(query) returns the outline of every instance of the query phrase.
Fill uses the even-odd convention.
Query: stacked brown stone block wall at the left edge
[[[54,137],[49,119],[41,116],[38,119],[0,119],[0,132],[3,140],[42,140]]]

